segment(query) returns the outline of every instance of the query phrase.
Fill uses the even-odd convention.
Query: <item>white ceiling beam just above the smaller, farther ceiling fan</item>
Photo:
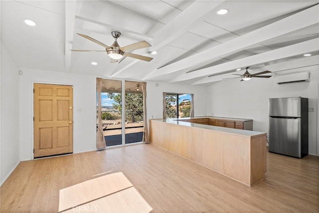
[[[193,84],[203,84],[213,82],[213,77],[207,77],[211,74],[222,73],[228,70],[235,70],[237,67],[244,67],[244,66],[252,66],[256,64],[261,64],[269,61],[273,61],[276,59],[288,58],[293,57],[296,55],[302,55],[304,53],[309,53],[318,50],[319,38],[315,38],[312,40],[300,42],[297,44],[293,44],[290,46],[282,47],[279,49],[271,50],[268,52],[260,53],[258,55],[252,55],[246,58],[241,58],[235,61],[230,61],[223,64],[218,64],[213,67],[208,67],[205,69],[200,70],[197,74],[194,72],[183,74],[184,80],[198,78],[198,77],[205,77],[199,81],[194,82]],[[273,71],[273,70],[270,70]],[[196,75],[194,75],[196,74]],[[172,80],[171,82],[176,82]]]

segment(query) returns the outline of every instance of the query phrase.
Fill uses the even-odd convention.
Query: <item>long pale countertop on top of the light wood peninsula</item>
[[[197,117],[198,118],[198,117]],[[203,117],[207,118],[207,117]],[[169,123],[169,124],[176,124],[181,126],[187,126],[187,127],[195,127],[200,129],[208,129],[212,131],[218,131],[218,132],[224,132],[228,134],[234,134],[239,136],[248,136],[248,137],[256,137],[261,135],[267,135],[267,133],[264,132],[256,132],[256,131],[250,131],[250,130],[241,130],[241,129],[233,129],[233,128],[227,128],[227,127],[218,127],[218,126],[211,126],[211,125],[205,125],[205,124],[196,124],[196,123],[190,123],[182,121],[182,119],[150,119],[152,121],[159,121],[163,123]]]

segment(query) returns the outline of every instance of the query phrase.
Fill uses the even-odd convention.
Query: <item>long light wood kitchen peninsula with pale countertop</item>
[[[265,179],[266,133],[150,119],[150,142],[247,186]]]

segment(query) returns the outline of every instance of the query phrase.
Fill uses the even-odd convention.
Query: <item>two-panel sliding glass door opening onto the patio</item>
[[[141,82],[103,79],[101,102],[107,147],[142,142],[144,111]]]

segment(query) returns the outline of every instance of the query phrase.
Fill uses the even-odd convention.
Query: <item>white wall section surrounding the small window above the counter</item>
[[[147,82],[147,117],[148,119],[163,117],[163,92],[194,94],[194,116],[205,116],[207,112],[206,87],[185,84],[167,84]]]

